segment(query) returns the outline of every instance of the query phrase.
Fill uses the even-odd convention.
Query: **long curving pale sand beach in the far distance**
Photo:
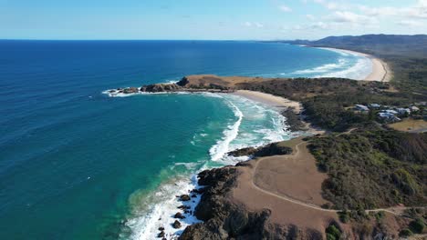
[[[370,61],[372,62],[372,72],[370,73],[370,75],[368,75],[364,79],[365,81],[390,82],[393,76],[389,65],[387,65],[387,63],[382,61],[380,58],[375,57],[373,55],[367,55],[367,54],[363,54],[363,53],[359,53],[351,50],[344,50],[344,49],[338,49],[338,48],[332,48],[332,47],[321,47],[321,48],[348,53],[351,55],[360,55],[360,56],[370,58]]]

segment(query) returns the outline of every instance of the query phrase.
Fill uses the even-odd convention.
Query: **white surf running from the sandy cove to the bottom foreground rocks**
[[[249,157],[233,157],[226,155],[226,153],[237,148],[265,145],[290,137],[286,126],[286,118],[270,106],[262,105],[236,95],[209,93],[203,95],[223,98],[237,118],[234,124],[228,125],[227,129],[224,130],[221,140],[217,141],[216,145],[211,147],[209,151],[211,156],[210,161],[222,165],[236,164],[248,160]],[[241,129],[244,121],[245,131]],[[266,122],[269,124],[266,125]],[[198,134],[193,137],[199,135],[203,136],[205,134]],[[196,172],[207,168],[210,161],[206,161],[202,168]],[[199,164],[203,163],[176,163],[173,166],[184,165],[187,169],[191,170],[196,169]],[[147,204],[140,203],[140,205],[148,205],[148,207],[142,209],[139,212],[140,214],[131,218],[127,224],[132,230],[131,239],[158,239],[157,235],[160,232],[158,228],[160,226],[165,228],[164,232],[168,235],[168,239],[174,239],[182,233],[182,230],[187,225],[200,222],[195,216],[186,215],[185,219],[180,220],[182,228],[178,230],[172,228],[171,224],[175,221],[172,215],[178,212],[177,206],[182,205],[174,195],[187,194],[191,189],[199,187],[195,175],[193,175],[191,181],[185,180],[185,176],[182,176],[182,179],[176,181],[175,184],[161,185],[155,193],[143,197],[142,202],[145,201]],[[194,211],[199,201],[200,196],[197,196],[194,203],[189,203],[191,204],[192,211]]]

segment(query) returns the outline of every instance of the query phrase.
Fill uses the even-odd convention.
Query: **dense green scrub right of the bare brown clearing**
[[[427,205],[426,139],[376,126],[313,137],[310,151],[328,173],[324,197],[338,209]]]

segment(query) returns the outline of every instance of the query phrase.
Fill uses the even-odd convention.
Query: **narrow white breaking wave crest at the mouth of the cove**
[[[234,111],[234,115],[237,116],[237,121],[234,125],[229,125],[228,129],[224,130],[224,137],[220,141],[213,145],[209,150],[209,154],[211,155],[211,159],[213,161],[220,160],[226,153],[230,151],[230,143],[237,137],[239,133],[239,126],[242,123],[243,114],[240,109],[234,105],[231,101],[228,101],[228,105],[230,105]]]

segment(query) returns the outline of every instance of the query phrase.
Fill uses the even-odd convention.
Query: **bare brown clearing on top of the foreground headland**
[[[297,225],[324,235],[331,222],[338,222],[335,210],[319,206],[327,203],[321,196],[321,183],[327,175],[318,173],[315,159],[301,138],[284,144],[294,147],[296,153],[262,157],[239,168],[234,201],[253,211],[272,210],[272,224]]]

